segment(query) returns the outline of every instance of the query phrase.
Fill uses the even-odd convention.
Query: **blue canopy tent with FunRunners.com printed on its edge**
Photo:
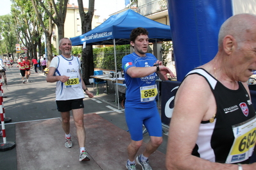
[[[149,42],[171,40],[170,26],[148,19],[133,10],[126,10],[109,17],[91,31],[70,38],[72,45],[114,45],[115,72],[117,72],[115,45],[130,44],[130,33],[136,27],[144,27],[149,33]],[[117,89],[117,84],[116,84]],[[116,90],[118,109],[118,90]]]

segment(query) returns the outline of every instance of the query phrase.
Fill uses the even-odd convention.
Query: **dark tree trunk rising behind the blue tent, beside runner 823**
[[[87,13],[83,10],[83,1],[78,0],[79,13],[81,18],[81,31],[82,34],[92,30],[92,17],[94,16],[94,0],[89,0],[89,10]],[[82,52],[82,78],[89,80],[90,75],[94,74],[94,62],[92,45],[86,45]]]

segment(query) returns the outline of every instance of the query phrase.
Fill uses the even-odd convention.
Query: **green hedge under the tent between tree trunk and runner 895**
[[[117,70],[122,70],[122,58],[130,54],[130,45],[116,45],[116,61]],[[115,70],[114,47],[104,47],[101,49],[93,49],[94,68],[103,68],[107,70]]]

